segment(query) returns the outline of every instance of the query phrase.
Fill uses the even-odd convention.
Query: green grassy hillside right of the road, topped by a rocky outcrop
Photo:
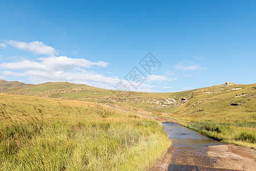
[[[256,84],[196,89],[166,117],[225,143],[256,149]]]

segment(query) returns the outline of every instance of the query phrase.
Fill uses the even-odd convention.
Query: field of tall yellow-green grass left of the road
[[[170,142],[154,120],[84,101],[0,95],[0,170],[145,170]]]

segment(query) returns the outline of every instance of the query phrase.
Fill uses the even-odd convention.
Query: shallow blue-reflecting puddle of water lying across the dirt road
[[[210,146],[222,145],[222,143],[209,139],[192,129],[182,127],[176,123],[162,123],[164,131],[173,142],[172,146]]]

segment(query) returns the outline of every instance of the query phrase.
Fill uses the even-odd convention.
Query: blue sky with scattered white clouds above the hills
[[[173,92],[256,80],[256,1],[1,1],[0,79]],[[139,64],[151,52],[161,65]],[[127,74],[147,77],[134,88]],[[129,82],[128,82],[129,81]]]

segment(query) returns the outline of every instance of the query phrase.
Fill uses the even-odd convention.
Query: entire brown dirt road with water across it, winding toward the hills
[[[108,105],[126,111],[125,109]],[[176,121],[133,112],[162,123],[172,146],[149,170],[251,170],[256,171],[256,150],[233,144],[222,144],[200,133],[182,127]]]

